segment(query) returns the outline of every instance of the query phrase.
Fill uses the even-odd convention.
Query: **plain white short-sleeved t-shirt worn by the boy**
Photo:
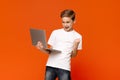
[[[51,53],[47,65],[70,71],[71,52],[75,39],[80,38],[78,50],[82,49],[82,36],[75,30],[66,32],[64,29],[54,30],[48,40],[48,44],[53,49],[60,50],[61,53]]]

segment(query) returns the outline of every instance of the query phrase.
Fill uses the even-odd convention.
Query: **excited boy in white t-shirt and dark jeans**
[[[71,80],[70,63],[71,57],[77,55],[77,50],[82,49],[82,36],[73,29],[75,23],[75,12],[64,10],[60,15],[63,28],[54,30],[48,40],[53,49],[60,53],[47,51],[39,41],[36,45],[43,52],[50,53],[46,64],[45,80]]]

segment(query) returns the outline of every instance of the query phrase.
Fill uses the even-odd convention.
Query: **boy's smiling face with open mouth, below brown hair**
[[[65,31],[69,32],[73,30],[74,21],[70,17],[62,18],[62,25]]]

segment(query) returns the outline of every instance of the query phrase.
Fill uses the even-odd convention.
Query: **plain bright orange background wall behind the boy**
[[[72,59],[72,80],[120,80],[119,0],[0,1],[0,80],[44,80],[47,54],[31,45],[29,29],[47,39],[61,28],[60,12],[76,12],[83,50]]]

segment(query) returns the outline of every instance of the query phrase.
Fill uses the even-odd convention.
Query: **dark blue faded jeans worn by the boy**
[[[45,80],[71,80],[70,71],[46,66]]]

